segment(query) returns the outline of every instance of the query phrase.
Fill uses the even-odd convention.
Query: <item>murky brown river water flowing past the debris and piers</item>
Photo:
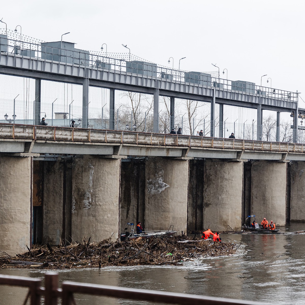
[[[63,270],[60,281],[185,292],[231,299],[305,303],[305,224],[282,228],[285,234],[222,234],[226,242],[241,243],[233,256],[201,258],[183,266],[108,267]],[[283,231],[282,231],[283,232]],[[33,269],[1,269],[0,274],[43,278]],[[22,304],[26,290],[0,286],[0,305]],[[135,301],[76,295],[77,304],[134,304]],[[141,302],[141,304],[148,304]]]

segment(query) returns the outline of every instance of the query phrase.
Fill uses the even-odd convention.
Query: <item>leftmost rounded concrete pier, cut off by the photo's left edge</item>
[[[16,255],[31,247],[33,158],[0,157],[0,251]]]

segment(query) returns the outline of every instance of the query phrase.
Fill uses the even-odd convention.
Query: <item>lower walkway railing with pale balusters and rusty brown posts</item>
[[[56,142],[182,146],[267,152],[305,152],[305,145],[295,143],[19,124],[0,124],[0,138]]]

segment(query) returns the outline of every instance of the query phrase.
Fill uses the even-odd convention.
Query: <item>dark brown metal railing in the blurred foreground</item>
[[[116,299],[141,300],[149,302],[162,302],[167,304],[192,304],[192,305],[263,305],[253,301],[230,300],[209,296],[196,296],[185,293],[161,292],[154,290],[132,289],[88,283],[63,282],[62,288],[58,288],[58,274],[55,272],[45,273],[45,287],[41,286],[38,278],[26,278],[21,276],[0,275],[0,285],[28,287],[28,293],[23,304],[30,299],[31,305],[39,305],[41,296],[44,297],[45,305],[76,304],[74,293],[95,296],[108,296]]]

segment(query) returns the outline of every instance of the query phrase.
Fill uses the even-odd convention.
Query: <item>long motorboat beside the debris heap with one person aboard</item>
[[[122,241],[128,239],[137,239],[139,237],[141,238],[147,238],[147,237],[160,237],[160,236],[172,236],[177,231],[174,231],[174,225],[170,225],[168,230],[156,230],[156,231],[147,231],[147,229],[144,229],[142,233],[137,233],[135,231],[135,225],[131,222],[127,222],[126,228],[124,229],[124,232],[120,234],[120,239]]]

